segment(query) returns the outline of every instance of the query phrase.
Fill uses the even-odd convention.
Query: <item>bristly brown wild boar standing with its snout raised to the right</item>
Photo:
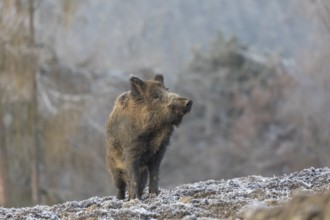
[[[164,77],[130,78],[131,90],[119,95],[106,124],[107,164],[117,198],[142,198],[149,175],[149,193],[158,194],[159,166],[174,126],[192,101],[169,92]]]

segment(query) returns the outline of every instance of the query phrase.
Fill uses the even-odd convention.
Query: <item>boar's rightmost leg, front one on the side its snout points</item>
[[[159,149],[156,152],[150,163],[148,164],[149,168],[149,193],[150,194],[159,194],[158,182],[159,182],[159,167],[160,163],[165,154],[165,147]]]

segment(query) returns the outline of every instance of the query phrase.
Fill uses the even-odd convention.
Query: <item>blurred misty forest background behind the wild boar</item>
[[[130,74],[194,100],[163,188],[329,166],[329,46],[327,0],[0,0],[0,206],[114,193]]]

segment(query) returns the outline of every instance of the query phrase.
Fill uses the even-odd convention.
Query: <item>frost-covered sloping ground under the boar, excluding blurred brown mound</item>
[[[326,191],[330,191],[330,169],[310,168],[284,176],[185,184],[163,189],[157,197],[145,193],[143,201],[107,196],[54,206],[0,208],[0,219],[248,219],[255,210],[281,206],[294,195]],[[318,210],[322,212],[314,207],[313,215]]]

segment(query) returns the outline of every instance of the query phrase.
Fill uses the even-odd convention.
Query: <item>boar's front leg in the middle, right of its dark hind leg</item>
[[[125,160],[127,174],[128,174],[128,200],[130,199],[141,199],[142,194],[139,191],[140,188],[140,174],[139,174],[139,166],[140,161],[139,158],[129,152],[128,156]]]

